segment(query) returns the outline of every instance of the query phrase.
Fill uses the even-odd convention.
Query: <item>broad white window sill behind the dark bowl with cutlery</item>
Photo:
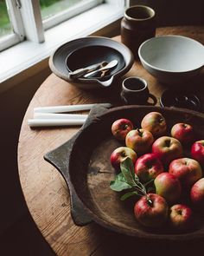
[[[0,53],[0,93],[48,67],[48,57],[61,44],[102,30],[118,21],[123,14],[123,7],[104,3],[47,30],[44,43],[24,41],[4,50]],[[103,36],[101,33],[98,35]]]

